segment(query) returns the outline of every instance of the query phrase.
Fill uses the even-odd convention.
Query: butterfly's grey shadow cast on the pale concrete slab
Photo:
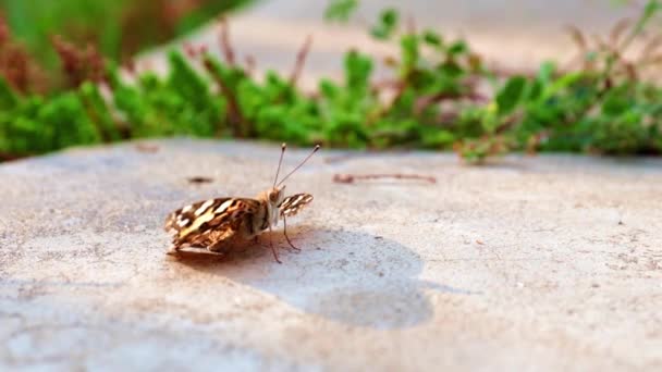
[[[468,295],[468,290],[418,280],[424,262],[412,249],[356,231],[290,232],[299,252],[280,249],[282,264],[266,241],[226,256],[186,252],[179,263],[272,294],[297,309],[327,320],[377,330],[415,326],[433,314],[432,293]],[[286,247],[282,233],[274,245]],[[267,246],[266,246],[267,245]]]

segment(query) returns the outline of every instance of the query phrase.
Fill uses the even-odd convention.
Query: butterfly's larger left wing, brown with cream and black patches
[[[258,200],[217,198],[198,201],[170,213],[166,231],[174,233],[173,245],[209,247],[233,236],[260,207]]]

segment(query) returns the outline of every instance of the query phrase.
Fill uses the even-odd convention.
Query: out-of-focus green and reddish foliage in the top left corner
[[[16,41],[52,74],[58,35],[72,45],[94,46],[113,61],[183,35],[249,0],[0,0]]]

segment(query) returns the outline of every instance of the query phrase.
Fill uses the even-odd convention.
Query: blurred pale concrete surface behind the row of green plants
[[[230,34],[237,60],[243,62],[246,55],[252,55],[258,72],[271,69],[289,76],[304,39],[311,35],[312,47],[299,85],[312,90],[319,76],[342,76],[342,55],[351,48],[378,60],[396,55],[396,45],[377,42],[368,36],[379,12],[394,7],[402,11],[404,22],[413,18],[417,27],[437,29],[446,38],[465,37],[491,65],[531,71],[545,60],[566,63],[576,58],[576,46],[566,30],[568,25],[587,35],[606,38],[614,24],[625,17],[636,18],[640,9],[640,5],[615,7],[610,0],[410,0],[406,5],[395,0],[360,0],[353,21],[335,25],[322,20],[328,2],[261,0],[233,14],[229,18]],[[219,49],[216,26],[187,39],[208,46],[212,52]],[[154,55],[148,53],[138,65],[163,70],[161,53]],[[391,76],[381,64],[377,66],[377,75]]]

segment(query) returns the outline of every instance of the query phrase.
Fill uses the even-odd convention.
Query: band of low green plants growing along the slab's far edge
[[[345,8],[331,14],[348,17]],[[98,54],[64,45],[59,54],[77,66],[71,71],[95,74],[84,70],[87,78],[74,75],[72,89],[47,96],[22,94],[0,79],[0,153],[186,135],[454,149],[471,163],[511,151],[660,154],[662,87],[643,76],[662,62],[662,42],[642,33],[659,9],[650,0],[639,20],[616,25],[609,40],[589,41],[572,29],[577,62],[565,69],[548,62],[534,74],[492,71],[465,40],[402,27],[399,13],[384,10],[370,34],[399,46],[399,55],[385,61],[392,78],[375,82],[377,62],[351,50],[344,79],[321,79],[312,96],[296,88],[308,42],[290,77],[269,72],[259,80],[235,62],[226,34],[220,35],[224,60],[188,46],[170,53],[167,76],[131,79],[117,65],[99,71]],[[626,59],[636,39],[643,48]]]

